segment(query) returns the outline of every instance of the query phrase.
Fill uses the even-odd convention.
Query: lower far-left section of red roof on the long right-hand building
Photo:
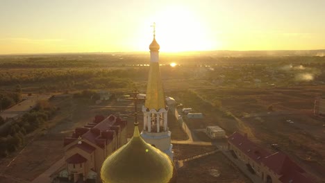
[[[228,137],[228,141],[233,143],[245,155],[253,159],[256,163],[260,164],[263,157],[271,155],[267,150],[256,146],[255,143],[244,137],[239,132],[234,132]]]

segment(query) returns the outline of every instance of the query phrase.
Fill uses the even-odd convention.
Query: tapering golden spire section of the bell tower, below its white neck
[[[149,110],[155,109],[157,111],[166,107],[165,94],[158,62],[150,62],[146,103],[144,106]]]

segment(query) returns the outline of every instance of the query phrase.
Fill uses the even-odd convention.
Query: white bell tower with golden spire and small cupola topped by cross
[[[173,159],[171,134],[168,130],[165,94],[159,69],[159,49],[156,41],[156,24],[153,23],[153,41],[150,46],[150,67],[147,84],[147,94],[142,112],[144,114],[144,128],[141,136],[147,143],[160,149]]]

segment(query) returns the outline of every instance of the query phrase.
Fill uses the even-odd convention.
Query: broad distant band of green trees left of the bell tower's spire
[[[133,85],[133,78],[142,77],[141,69],[88,69],[88,70],[43,70],[24,73],[0,72],[0,85],[39,85],[42,89],[102,89]]]

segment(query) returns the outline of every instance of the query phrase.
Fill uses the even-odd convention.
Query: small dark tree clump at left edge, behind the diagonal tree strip
[[[0,104],[1,110],[15,105],[22,101],[22,94],[20,93],[20,86],[17,86],[16,92],[11,91],[0,91]]]

